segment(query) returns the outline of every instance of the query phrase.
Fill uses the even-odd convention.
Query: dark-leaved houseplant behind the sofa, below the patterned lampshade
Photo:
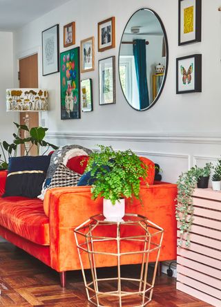
[[[0,155],[0,169],[8,168],[8,158],[17,156],[17,149],[21,144],[26,145],[27,143],[30,143],[30,147],[28,147],[28,149],[26,146],[24,146],[26,156],[30,154],[30,150],[35,145],[37,146],[37,155],[39,155],[40,147],[45,147],[43,155],[46,154],[46,151],[48,151],[50,147],[52,147],[52,149],[58,148],[57,146],[44,140],[48,128],[34,127],[29,130],[25,124],[17,124],[16,122],[14,122],[14,124],[17,127],[17,133],[13,133],[14,140],[12,143],[9,144],[6,141],[0,142],[2,151],[2,154]],[[20,137],[21,130],[28,132],[28,138]]]

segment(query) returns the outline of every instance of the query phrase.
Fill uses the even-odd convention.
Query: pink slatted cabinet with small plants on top
[[[221,307],[221,192],[195,189],[190,248],[177,248],[177,289]]]

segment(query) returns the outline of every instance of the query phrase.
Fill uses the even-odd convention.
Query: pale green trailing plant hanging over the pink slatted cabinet
[[[177,180],[177,205],[175,217],[178,222],[180,239],[177,242],[178,247],[182,247],[184,238],[186,247],[190,246],[190,232],[193,223],[193,191],[195,184],[201,176],[206,177],[211,173],[211,163],[206,163],[205,167],[191,167],[189,171],[182,173]]]

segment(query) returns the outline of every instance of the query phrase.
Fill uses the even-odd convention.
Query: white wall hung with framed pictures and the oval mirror
[[[220,1],[202,0],[202,42],[177,46],[178,1],[175,0],[72,0],[17,30],[14,56],[38,50],[41,31],[60,25],[60,51],[63,48],[63,26],[76,21],[76,46],[80,40],[95,36],[95,71],[81,78],[93,79],[94,111],[81,113],[80,120],[60,120],[59,73],[41,77],[41,86],[50,91],[50,111],[46,126],[50,140],[58,144],[77,143],[94,148],[97,143],[115,149],[130,147],[160,162],[164,180],[175,182],[178,174],[191,165],[202,165],[221,154],[221,67],[220,67]],[[118,73],[117,103],[99,106],[99,59],[118,57],[119,43],[129,17],[139,8],[151,8],[160,15],[169,41],[169,70],[164,91],[148,111],[135,111],[125,101]],[[116,17],[116,48],[97,53],[97,22]],[[202,53],[202,93],[176,95],[175,59]],[[117,71],[117,69],[116,69]],[[16,79],[15,79],[16,80]],[[41,124],[41,123],[40,123]]]

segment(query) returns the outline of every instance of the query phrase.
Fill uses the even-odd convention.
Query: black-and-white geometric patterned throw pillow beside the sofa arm
[[[52,176],[48,189],[52,189],[53,187],[75,187],[80,178],[81,175],[68,169],[63,163],[60,163],[54,176]]]

